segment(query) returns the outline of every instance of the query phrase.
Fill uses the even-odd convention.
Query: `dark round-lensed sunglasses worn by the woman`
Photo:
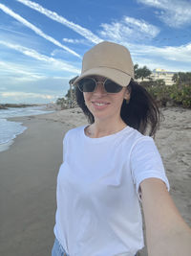
[[[106,79],[105,81],[96,81],[94,78],[84,78],[77,82],[81,92],[94,92],[98,83],[102,83],[107,93],[117,93],[122,90],[122,86],[115,81]]]

